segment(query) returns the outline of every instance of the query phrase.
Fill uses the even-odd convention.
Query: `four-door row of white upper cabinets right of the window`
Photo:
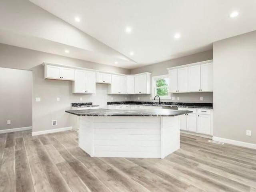
[[[212,60],[168,68],[169,92],[212,92]]]

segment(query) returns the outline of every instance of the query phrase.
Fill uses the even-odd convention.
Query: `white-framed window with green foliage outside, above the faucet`
[[[168,89],[169,89],[168,75],[152,77],[152,83],[153,83],[153,87],[152,87],[153,97],[158,95],[162,99],[164,98],[170,99],[170,93],[168,92]]]

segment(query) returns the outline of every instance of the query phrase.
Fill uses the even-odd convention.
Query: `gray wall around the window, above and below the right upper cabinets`
[[[160,62],[140,68],[135,68],[131,70],[131,74],[137,74],[142,72],[150,72],[152,76],[159,76],[168,74],[166,68],[206,61],[212,59],[212,50],[205,51],[177,59],[168,60],[165,62]],[[164,102],[195,102],[195,103],[212,103],[213,96],[212,92],[208,93],[175,93],[171,94],[172,97],[175,97],[175,100],[162,100]],[[138,97],[140,97],[140,101],[152,101],[150,100],[151,95],[134,95],[131,96],[133,101],[139,101]],[[177,97],[180,100],[177,100]],[[200,101],[200,97],[203,97],[203,101]]]

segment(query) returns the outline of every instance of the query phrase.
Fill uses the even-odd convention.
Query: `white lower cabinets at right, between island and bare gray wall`
[[[184,109],[193,111],[179,116],[180,130],[212,135],[212,110],[210,109]]]

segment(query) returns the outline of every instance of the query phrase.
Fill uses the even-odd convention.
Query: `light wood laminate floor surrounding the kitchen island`
[[[91,158],[74,131],[0,134],[0,192],[256,192],[256,150],[181,134],[164,159]]]

